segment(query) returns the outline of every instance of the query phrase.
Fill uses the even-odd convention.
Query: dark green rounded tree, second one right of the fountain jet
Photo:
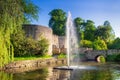
[[[94,22],[91,20],[87,20],[87,22],[84,23],[84,39],[94,41],[95,30],[96,28]]]

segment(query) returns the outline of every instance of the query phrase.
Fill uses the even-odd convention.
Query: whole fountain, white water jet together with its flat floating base
[[[66,22],[66,44],[67,44],[67,66],[56,67],[54,69],[92,69],[90,66],[80,65],[80,51],[76,26],[72,21],[71,13],[68,12],[67,22]]]

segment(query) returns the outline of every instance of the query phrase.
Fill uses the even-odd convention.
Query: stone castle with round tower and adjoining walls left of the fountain
[[[26,36],[32,36],[33,39],[39,40],[42,34],[49,41],[48,54],[66,53],[66,37],[53,34],[51,28],[42,25],[24,24]]]

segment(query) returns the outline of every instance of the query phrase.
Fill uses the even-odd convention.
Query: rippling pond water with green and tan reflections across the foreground
[[[59,70],[49,66],[20,73],[0,72],[0,80],[120,80],[119,63],[85,62],[82,65],[86,68]]]

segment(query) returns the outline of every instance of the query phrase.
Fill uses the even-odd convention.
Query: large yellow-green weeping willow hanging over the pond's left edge
[[[34,5],[30,1],[31,0],[0,1],[0,67],[3,67],[14,59],[14,46],[11,42],[11,37],[19,30],[22,30],[22,24],[25,18],[34,18],[34,16],[27,18],[27,15],[30,15],[30,13],[31,15],[37,14],[36,12],[32,12],[30,8],[26,8],[28,5],[29,7]],[[26,7],[24,4],[26,4]]]

